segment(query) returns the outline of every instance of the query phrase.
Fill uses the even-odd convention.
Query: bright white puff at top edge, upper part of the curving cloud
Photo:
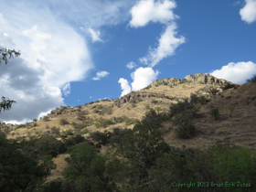
[[[166,24],[169,20],[176,18],[172,11],[175,7],[176,2],[173,0],[158,0],[156,2],[155,0],[141,0],[133,5],[130,26],[144,27],[151,21]]]

